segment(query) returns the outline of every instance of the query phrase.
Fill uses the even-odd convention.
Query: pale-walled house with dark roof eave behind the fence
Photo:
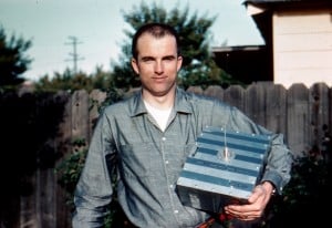
[[[270,50],[276,84],[332,86],[332,0],[248,0],[243,4]]]

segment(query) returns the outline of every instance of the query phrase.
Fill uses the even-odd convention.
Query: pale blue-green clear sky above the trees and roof
[[[123,12],[139,7],[141,0],[0,0],[0,27],[8,38],[15,35],[32,45],[27,55],[30,69],[22,75],[37,81],[41,76],[74,69],[73,38],[76,39],[76,68],[91,74],[96,66],[111,70],[131,27]],[[210,28],[210,46],[256,45],[263,40],[243,0],[144,0],[170,11],[189,9],[200,15],[217,17]]]

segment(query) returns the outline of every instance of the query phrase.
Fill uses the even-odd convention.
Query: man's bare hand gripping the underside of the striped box
[[[273,189],[274,187],[270,182],[257,185],[247,205],[228,205],[225,207],[225,213],[240,220],[260,218],[272,196]]]

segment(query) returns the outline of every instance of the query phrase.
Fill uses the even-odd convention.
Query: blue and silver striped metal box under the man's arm
[[[246,201],[261,178],[270,141],[267,135],[204,128],[177,180],[183,204],[219,213],[221,206]]]

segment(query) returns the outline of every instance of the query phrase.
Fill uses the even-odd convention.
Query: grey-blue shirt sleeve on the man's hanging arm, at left
[[[107,159],[114,155],[110,122],[102,114],[91,139],[84,168],[74,193],[73,228],[103,227],[112,200],[112,182]]]

